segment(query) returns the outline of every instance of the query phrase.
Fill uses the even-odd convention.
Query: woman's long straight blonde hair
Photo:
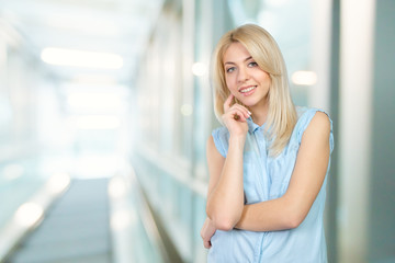
[[[219,39],[212,61],[215,115],[221,122],[224,102],[230,94],[225,81],[224,54],[233,43],[244,45],[260,69],[270,76],[266,132],[269,140],[272,141],[270,155],[278,156],[291,138],[297,115],[291,99],[286,67],[281,50],[274,38],[262,27],[245,24],[227,32]]]

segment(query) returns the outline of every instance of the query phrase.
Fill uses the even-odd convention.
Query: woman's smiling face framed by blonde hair
[[[223,62],[230,93],[252,111],[267,107],[270,76],[259,68],[245,46],[238,42],[230,44]]]

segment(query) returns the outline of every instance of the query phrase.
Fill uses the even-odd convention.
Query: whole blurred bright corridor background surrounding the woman
[[[205,262],[210,59],[278,41],[334,121],[329,262],[395,262],[395,1],[0,0],[0,262]]]

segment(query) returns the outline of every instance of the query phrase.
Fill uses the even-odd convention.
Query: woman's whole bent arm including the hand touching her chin
[[[228,150],[224,158],[211,136],[207,141],[210,172],[206,214],[216,229],[230,230],[239,221],[244,209],[242,151],[248,132],[249,111],[233,103],[229,95],[224,103],[223,123],[229,132]]]

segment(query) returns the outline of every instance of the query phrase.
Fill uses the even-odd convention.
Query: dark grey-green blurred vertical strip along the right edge
[[[395,262],[395,1],[376,1],[369,262]]]

